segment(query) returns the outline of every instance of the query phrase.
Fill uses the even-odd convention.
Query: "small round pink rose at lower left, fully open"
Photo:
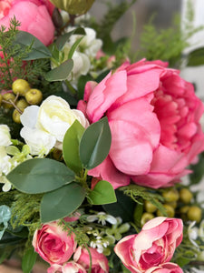
[[[34,232],[34,250],[49,264],[63,264],[76,249],[73,234],[68,236],[56,222],[44,225]]]

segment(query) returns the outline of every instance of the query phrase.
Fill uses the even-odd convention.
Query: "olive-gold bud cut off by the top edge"
[[[50,0],[50,2],[70,15],[83,15],[92,7],[94,0]]]

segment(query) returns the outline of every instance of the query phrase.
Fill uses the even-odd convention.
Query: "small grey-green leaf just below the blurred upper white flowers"
[[[53,68],[44,76],[49,82],[65,80],[73,70],[73,60],[68,59],[62,65]]]

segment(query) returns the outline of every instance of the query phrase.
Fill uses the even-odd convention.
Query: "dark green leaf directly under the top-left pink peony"
[[[24,49],[27,46],[32,45],[32,51],[24,57],[24,61],[50,58],[52,56],[49,49],[40,40],[38,40],[34,35],[22,30],[17,33],[15,44],[21,45]]]

